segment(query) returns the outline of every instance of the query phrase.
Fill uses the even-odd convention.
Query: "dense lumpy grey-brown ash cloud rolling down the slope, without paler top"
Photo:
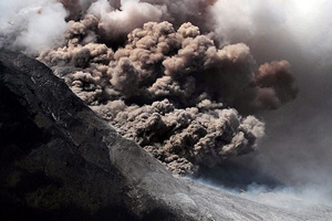
[[[93,42],[97,23],[93,15],[73,22],[68,45],[39,59],[121,134],[176,173],[257,148],[263,124],[229,106],[238,101],[252,109],[270,108],[271,102],[257,102],[259,94],[280,85],[273,77],[271,84],[260,81],[284,71],[283,62],[256,70],[247,45],[218,50],[190,23],[177,31],[168,22],[145,23],[113,52]],[[273,93],[267,99],[280,98]]]

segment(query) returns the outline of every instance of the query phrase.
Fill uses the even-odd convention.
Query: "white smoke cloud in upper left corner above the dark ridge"
[[[29,53],[56,45],[68,29],[63,6],[49,0],[0,1],[0,46]]]

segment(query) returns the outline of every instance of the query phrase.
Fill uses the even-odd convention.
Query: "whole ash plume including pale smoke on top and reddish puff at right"
[[[216,41],[218,1],[61,2],[69,29],[38,59],[175,173],[253,151],[264,124],[249,114],[297,96],[287,61],[258,65],[245,43]]]

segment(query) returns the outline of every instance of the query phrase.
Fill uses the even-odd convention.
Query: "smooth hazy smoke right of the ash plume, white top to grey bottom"
[[[260,63],[286,59],[301,92],[283,108],[262,114],[268,125],[267,139],[260,144],[263,148],[234,162],[315,192],[319,201],[330,200],[332,193],[331,3],[220,0],[211,8],[215,35],[221,44],[246,42]]]

